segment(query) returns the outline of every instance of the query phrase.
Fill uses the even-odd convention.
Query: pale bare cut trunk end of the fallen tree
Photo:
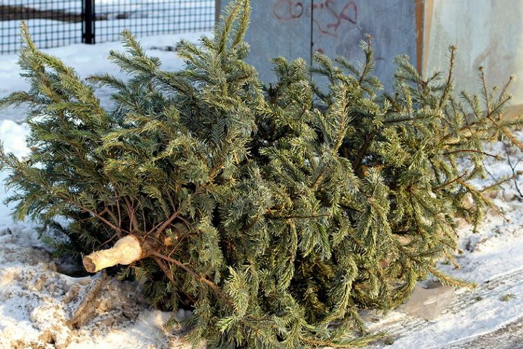
[[[84,258],[87,272],[96,273],[114,265],[130,265],[142,258],[142,246],[133,235],[123,237],[108,250],[96,251]]]

